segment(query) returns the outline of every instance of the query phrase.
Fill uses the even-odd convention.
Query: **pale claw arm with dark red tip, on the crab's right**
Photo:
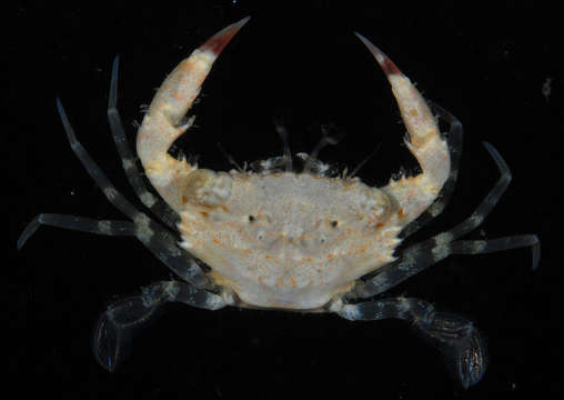
[[[431,110],[410,79],[366,38],[356,32],[354,34],[362,40],[385,72],[407,129],[409,139],[405,144],[423,171],[416,177],[392,180],[383,188],[399,203],[396,222],[405,226],[433,203],[449,178],[449,146],[441,138]]]

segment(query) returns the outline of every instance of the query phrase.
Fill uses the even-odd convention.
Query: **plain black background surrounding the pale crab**
[[[40,389],[81,399],[557,394],[563,130],[562,74],[554,56],[561,49],[551,41],[557,27],[546,4],[464,4],[20,2],[4,11],[6,317],[13,333],[6,344],[9,379],[20,393]],[[133,199],[105,120],[113,57],[121,58],[119,109],[133,142],[140,106],[150,102],[165,74],[215,31],[248,14],[252,20],[215,63],[193,109],[198,127],[179,141],[188,153],[201,154],[201,166],[230,168],[218,141],[240,162],[280,154],[272,121],[281,117],[294,152],[311,151],[323,124],[345,132],[321,158],[351,168],[381,143],[360,172],[371,184],[386,183],[401,166],[413,168],[390,87],[352,34],[357,30],[465,129],[452,202],[414,241],[467,217],[494,184],[497,170],[482,141],[493,143],[511,167],[514,180],[506,194],[469,238],[538,233],[538,271],[531,271],[527,249],[457,256],[391,293],[422,298],[476,322],[489,339],[490,367],[475,388],[461,390],[439,354],[401,322],[182,306],[169,307],[138,338],[130,360],[110,374],[90,351],[99,312],[115,296],[169,278],[167,268],[134,239],[47,227],[16,252],[18,236],[40,212],[124,219],[72,154],[54,98],[61,98],[93,159]],[[552,93],[543,96],[548,79]]]

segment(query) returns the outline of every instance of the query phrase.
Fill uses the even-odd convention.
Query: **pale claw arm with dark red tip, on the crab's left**
[[[185,132],[193,120],[183,122],[187,111],[223,48],[250,17],[230,24],[195,49],[164,80],[154,96],[137,137],[137,152],[147,177],[172,209],[182,206],[183,182],[197,169],[168,154],[171,144]]]

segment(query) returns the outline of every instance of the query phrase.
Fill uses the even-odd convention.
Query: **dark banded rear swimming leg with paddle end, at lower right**
[[[464,389],[476,384],[487,367],[484,339],[473,323],[460,316],[435,311],[433,306],[413,298],[393,298],[357,304],[335,304],[332,309],[348,320],[400,319],[443,356],[449,372]]]

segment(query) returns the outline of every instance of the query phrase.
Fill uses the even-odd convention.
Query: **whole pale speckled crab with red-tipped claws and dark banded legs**
[[[479,227],[511,181],[495,148],[484,142],[501,177],[475,211],[454,228],[420,243],[399,244],[444,209],[457,177],[460,121],[425,101],[400,69],[366,38],[356,37],[385,72],[407,130],[405,144],[421,173],[370,187],[338,173],[312,154],[293,157],[285,131],[280,157],[229,172],[201,169],[169,149],[189,130],[185,114],[223,48],[249,17],[215,33],[183,60],[160,87],[137,136],[137,154],[160,198],[151,193],[128,146],[117,110],[118,64],[110,83],[108,118],[125,174],[141,202],[139,211],[109,181],[77,140],[57,99],[72,151],[108,200],[130,221],[91,220],[42,213],[21,234],[21,248],[41,224],[107,236],[137,237],[178,279],[155,282],[112,303],[93,336],[97,361],[113,371],[131,349],[131,333],[167,302],[219,310],[224,307],[336,313],[351,321],[400,319],[442,352],[464,387],[477,383],[486,366],[483,336],[465,318],[435,310],[415,298],[386,297],[391,288],[451,254],[531,247],[533,268],[540,240],[522,234],[460,240]],[[439,130],[435,113],[450,124]],[[326,137],[320,144],[331,142]],[[301,160],[301,170],[294,162]]]

